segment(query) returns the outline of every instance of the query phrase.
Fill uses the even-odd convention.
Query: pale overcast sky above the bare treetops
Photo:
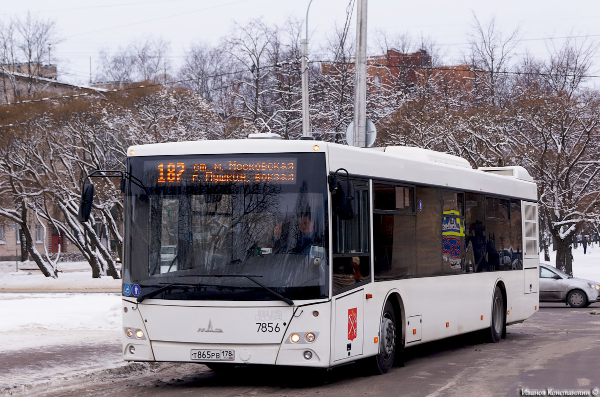
[[[316,50],[333,32],[337,23],[346,20],[350,0],[313,0],[308,14],[309,44]],[[82,2],[76,0],[3,1],[0,19],[25,16],[31,11],[46,19],[55,19],[64,41],[52,49],[51,62],[58,64],[59,74],[70,82],[89,81],[98,67],[98,51],[116,51],[131,40],[149,34],[163,37],[171,44],[173,64],[184,56],[194,42],[216,44],[232,28],[233,21],[242,25],[250,19],[262,18],[266,23],[281,23],[288,16],[304,20],[308,0],[116,0]],[[356,7],[353,11],[356,14]],[[372,44],[374,31],[390,34],[408,32],[415,37],[431,37],[440,47],[446,63],[458,62],[464,52],[475,13],[481,22],[496,17],[496,25],[511,32],[521,26],[524,39],[518,53],[527,47],[535,56],[547,55],[548,37],[568,35],[590,36],[600,40],[600,2],[589,1],[430,1],[403,2],[370,0],[368,2],[367,37]],[[356,23],[350,35],[356,37]],[[557,43],[562,43],[558,40]],[[371,46],[370,55],[375,55]],[[596,55],[593,74],[600,74],[600,52]],[[600,78],[593,79],[600,86]]]

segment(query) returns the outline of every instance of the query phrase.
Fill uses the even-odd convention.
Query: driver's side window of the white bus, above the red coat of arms
[[[334,293],[371,279],[368,182],[353,182],[356,200],[354,218],[340,219],[335,213],[335,208],[333,213]]]

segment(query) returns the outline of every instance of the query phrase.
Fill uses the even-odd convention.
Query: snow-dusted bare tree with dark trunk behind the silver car
[[[526,90],[514,115],[511,150],[538,183],[556,267],[572,274],[572,239],[599,217],[600,95]]]

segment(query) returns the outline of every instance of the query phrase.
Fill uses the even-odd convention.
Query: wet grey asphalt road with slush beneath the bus
[[[499,344],[468,334],[419,345],[404,351],[403,367],[380,376],[365,374],[360,363],[331,371],[255,367],[222,374],[178,363],[94,369],[103,360],[118,360],[120,349],[103,342],[0,354],[0,374],[38,366],[47,379],[0,386],[0,396],[520,396],[522,390],[593,395],[600,390],[600,303],[584,309],[542,303],[529,320],[508,327]],[[50,375],[53,363],[69,360],[81,363],[79,372]]]

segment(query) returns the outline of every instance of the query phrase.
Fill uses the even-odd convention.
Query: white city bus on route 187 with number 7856
[[[406,347],[538,309],[536,185],[407,147],[130,147],[125,360],[384,373]]]

